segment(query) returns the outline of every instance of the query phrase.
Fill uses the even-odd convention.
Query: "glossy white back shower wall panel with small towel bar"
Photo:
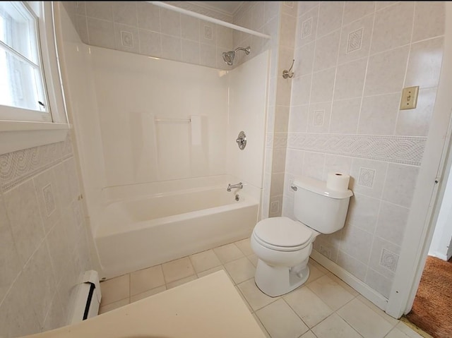
[[[107,186],[226,174],[227,72],[90,50]]]

